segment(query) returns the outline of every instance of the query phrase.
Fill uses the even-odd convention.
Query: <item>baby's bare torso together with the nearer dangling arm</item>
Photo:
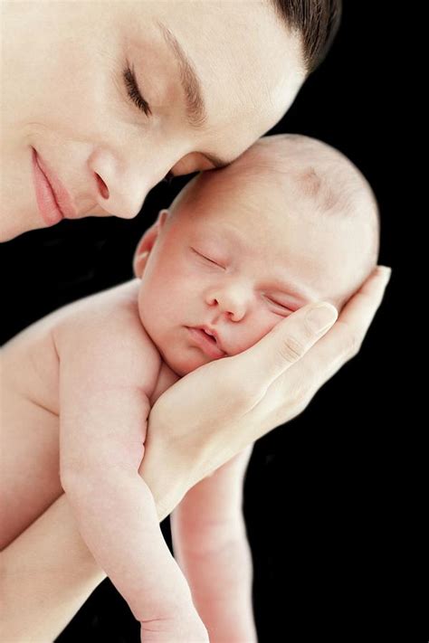
[[[5,346],[4,359],[4,447],[9,452],[14,441],[18,452],[4,463],[2,548],[64,488],[81,534],[143,622],[143,631],[156,621],[166,624],[166,637],[205,640],[185,579],[159,531],[152,496],[138,477],[150,405],[177,376],[161,364],[139,323],[136,283],[29,328]],[[19,377],[23,366],[25,382]],[[119,373],[125,374],[122,381]],[[43,390],[42,374],[49,375]],[[25,427],[24,435],[19,427]],[[43,427],[42,434],[37,427]],[[21,467],[28,477],[16,478],[14,471]],[[188,506],[192,510],[192,503]],[[201,546],[214,540],[200,535]],[[187,546],[182,545],[184,560]],[[188,564],[192,570],[192,557]]]

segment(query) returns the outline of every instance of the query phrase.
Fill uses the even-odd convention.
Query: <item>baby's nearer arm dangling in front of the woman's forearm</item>
[[[172,629],[177,641],[207,640],[138,475],[151,392],[145,382],[159,370],[158,355],[129,329],[83,337],[72,344],[62,337],[60,352],[60,471],[81,535],[150,632],[145,641]]]

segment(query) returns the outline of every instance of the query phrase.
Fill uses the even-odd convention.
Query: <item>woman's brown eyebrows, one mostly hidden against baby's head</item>
[[[182,46],[177,41],[176,36],[170,32],[166,25],[157,22],[157,26],[179,65],[180,82],[186,96],[186,113],[188,122],[193,128],[202,128],[207,119],[207,112],[205,110],[205,101],[201,90],[201,81],[195,71],[195,65],[182,49]],[[204,156],[206,156],[208,160],[215,165],[215,167],[224,167],[231,163],[231,161],[220,158],[219,156],[211,154],[205,154]]]

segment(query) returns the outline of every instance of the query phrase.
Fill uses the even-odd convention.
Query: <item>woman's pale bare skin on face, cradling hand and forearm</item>
[[[127,2],[3,3],[2,74],[14,73],[2,75],[2,239],[46,225],[34,197],[31,147],[71,192],[77,216],[130,217],[167,171],[185,174],[212,167],[207,154],[232,160],[271,128],[289,108],[304,74],[296,38],[273,22],[267,5],[250,4],[260,12],[257,17],[249,3],[211,3],[213,14],[206,20],[198,11],[202,5],[195,3],[187,8],[181,3],[180,13],[175,3],[141,3],[138,15],[137,4]],[[233,27],[237,16],[225,19],[225,11],[242,12],[239,40]],[[150,85],[143,67],[154,52],[152,62],[160,65],[155,78],[162,80],[162,88],[153,90],[161,91],[153,97],[158,118],[139,112],[121,85],[123,63],[136,47],[140,55],[138,37],[146,39],[148,24],[157,20],[167,20],[167,28],[195,58],[208,111],[203,128],[187,121],[183,90],[177,75],[171,75],[178,74],[176,63],[167,58],[167,49],[159,50],[165,39],[146,41],[141,61],[131,61],[138,77],[142,70],[141,84]],[[222,35],[222,46],[207,37],[208,25],[211,33]],[[142,468],[159,517],[215,466],[302,411],[319,386],[356,355],[388,274],[383,267],[374,271],[323,341],[318,340],[328,328],[310,330],[304,319],[314,305],[304,307],[254,350],[209,364],[197,387],[189,374],[159,398],[149,416]],[[292,346],[299,346],[299,352]],[[225,392],[234,391],[230,406],[216,415],[214,396],[225,398]],[[191,398],[184,408],[183,399]],[[209,478],[214,485],[215,476]],[[64,496],[5,549],[3,561],[2,590],[11,608],[5,637],[11,640],[57,636],[104,577],[81,541]],[[17,593],[24,611],[20,606],[13,610]]]

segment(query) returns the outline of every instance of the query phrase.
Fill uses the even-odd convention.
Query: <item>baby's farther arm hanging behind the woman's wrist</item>
[[[171,515],[176,559],[210,643],[254,643],[252,555],[243,479],[253,445],[191,488]]]

